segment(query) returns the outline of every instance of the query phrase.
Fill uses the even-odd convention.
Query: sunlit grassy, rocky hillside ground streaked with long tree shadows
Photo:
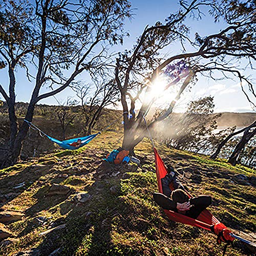
[[[157,184],[147,139],[136,148],[140,166],[101,161],[119,146],[119,137],[104,133],[77,151],[60,151],[0,171],[2,209],[25,214],[7,225],[14,239],[0,247],[0,255],[222,255],[223,245],[216,245],[214,234],[168,220],[153,201]],[[192,194],[214,198],[210,210],[218,219],[233,230],[255,230],[252,169],[156,147],[164,162],[183,174]],[[248,180],[237,180],[237,174]],[[68,194],[48,195],[53,183],[68,186]],[[80,192],[90,195],[84,203],[77,200]],[[250,253],[239,241],[234,247],[227,255]]]

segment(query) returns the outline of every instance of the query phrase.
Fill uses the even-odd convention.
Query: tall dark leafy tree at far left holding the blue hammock
[[[25,116],[32,121],[37,102],[65,90],[83,72],[103,69],[108,47],[122,42],[131,6],[127,0],[2,0],[0,6],[0,63],[9,74],[0,92],[11,126],[6,166],[17,161],[29,128],[26,122],[18,126],[15,114],[17,67],[34,84]],[[42,87],[48,92],[41,93]]]

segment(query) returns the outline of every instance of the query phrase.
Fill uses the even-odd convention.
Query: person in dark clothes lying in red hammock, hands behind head
[[[161,179],[163,194],[154,193],[157,204],[166,210],[172,210],[187,217],[197,219],[201,212],[211,204],[210,196],[189,198],[185,188],[178,180],[174,168],[166,166],[168,173]],[[173,190],[169,185],[172,183]]]

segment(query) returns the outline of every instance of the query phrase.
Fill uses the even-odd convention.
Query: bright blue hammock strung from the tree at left
[[[35,126],[33,123],[24,120],[25,122],[28,123],[28,125],[32,128],[32,129],[36,129],[38,130],[41,134],[45,135],[49,140],[51,140],[52,142],[58,144],[59,146],[61,146],[62,148],[64,148],[65,150],[77,150],[77,148],[82,147],[84,145],[86,145],[87,143],[89,143],[92,139],[94,139],[98,134],[100,133],[96,133],[96,134],[92,134],[86,137],[79,137],[79,138],[75,138],[75,139],[70,139],[70,140],[57,140],[52,138],[51,136],[47,135],[46,133],[42,132],[37,126]],[[70,144],[72,144],[73,142],[76,142],[77,140],[81,140],[81,144],[79,146],[71,146]]]

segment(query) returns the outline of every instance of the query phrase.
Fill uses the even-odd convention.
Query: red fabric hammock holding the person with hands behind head
[[[163,193],[161,179],[165,177],[165,175],[167,174],[167,170],[156,148],[154,148],[154,153],[155,153],[158,190],[159,190],[159,193]],[[187,191],[186,193],[189,197],[191,197],[191,195]],[[172,221],[181,222],[191,226],[201,227],[211,231],[212,231],[212,228],[211,228],[212,225],[220,223],[220,221],[217,220],[217,218],[215,218],[206,209],[201,212],[197,220],[189,218],[182,214],[178,214],[178,212],[174,212],[171,210],[164,210],[164,212],[168,216],[168,218]]]

